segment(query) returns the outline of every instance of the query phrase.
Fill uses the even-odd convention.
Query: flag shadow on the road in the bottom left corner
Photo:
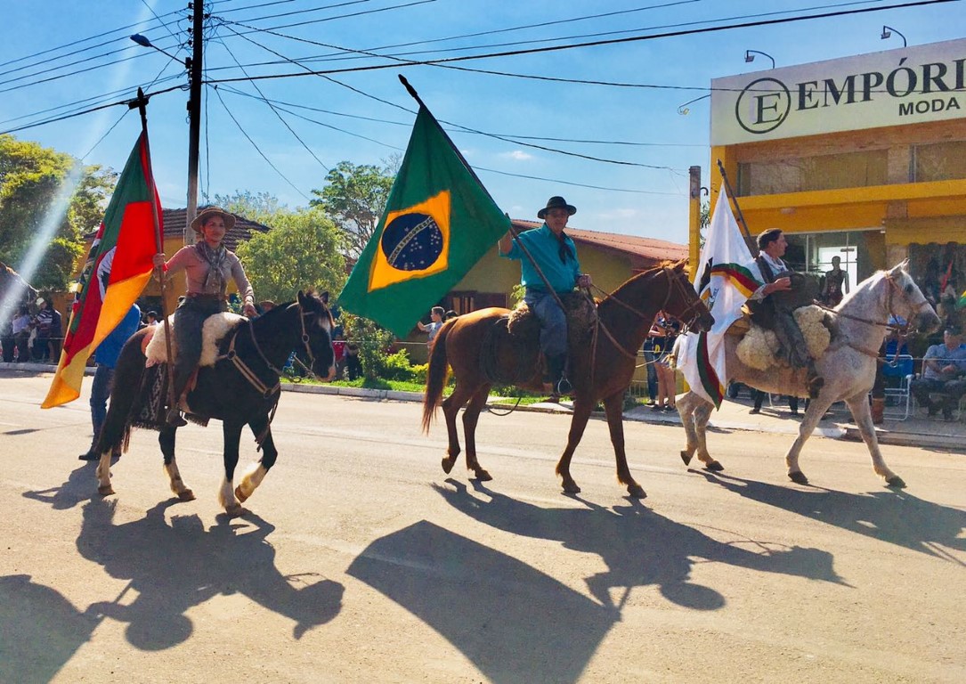
[[[29,575],[0,577],[0,682],[49,682],[99,623]]]

